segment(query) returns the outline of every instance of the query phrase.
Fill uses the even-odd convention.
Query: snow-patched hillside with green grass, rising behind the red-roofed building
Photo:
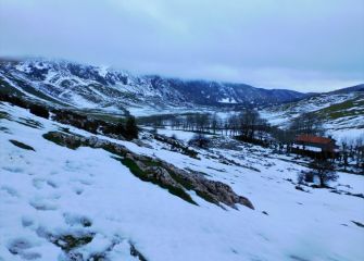
[[[337,139],[364,134],[364,85],[307,97],[297,102],[269,107],[262,111],[271,124],[287,126],[290,120],[312,112]]]

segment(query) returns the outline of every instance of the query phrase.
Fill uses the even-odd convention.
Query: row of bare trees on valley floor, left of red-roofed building
[[[140,124],[155,127],[171,126],[174,129],[197,133],[221,133],[241,136],[246,139],[262,139],[266,134],[279,142],[291,142],[299,134],[322,135],[319,119],[313,113],[303,113],[291,121],[289,128],[271,127],[256,110],[244,109],[222,119],[216,113],[186,113],[181,115],[164,114],[138,119]]]

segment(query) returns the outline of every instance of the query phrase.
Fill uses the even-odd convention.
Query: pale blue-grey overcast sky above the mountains
[[[364,0],[0,0],[0,55],[326,91],[364,83]]]

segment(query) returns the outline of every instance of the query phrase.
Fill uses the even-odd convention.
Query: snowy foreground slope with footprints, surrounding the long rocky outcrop
[[[148,133],[141,142],[97,137],[223,182],[254,210],[189,190],[192,204],[139,179],[112,152],[62,147],[43,138],[49,132],[91,136],[0,102],[0,260],[364,259],[363,176],[339,173],[332,189],[302,191],[303,160],[224,147],[228,138],[190,158]]]

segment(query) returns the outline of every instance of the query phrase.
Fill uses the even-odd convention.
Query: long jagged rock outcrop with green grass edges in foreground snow
[[[242,204],[254,209],[248,198],[235,194],[231,187],[224,183],[208,179],[200,173],[187,172],[160,159],[134,153],[123,145],[96,136],[81,137],[61,132],[50,132],[43,137],[71,149],[79,146],[102,148],[115,154],[115,159],[128,166],[130,172],[140,179],[156,184],[188,202],[197,204],[187,194],[187,190],[193,190],[204,200],[222,208],[228,206],[236,209],[236,204]]]

